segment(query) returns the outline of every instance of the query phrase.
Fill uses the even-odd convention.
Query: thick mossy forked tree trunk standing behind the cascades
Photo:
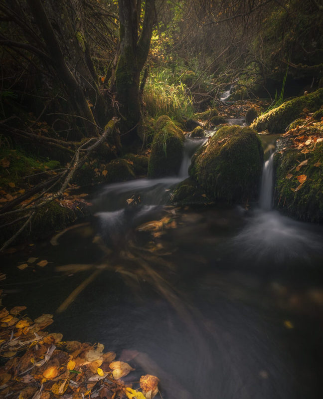
[[[141,0],[119,0],[120,56],[116,70],[117,98],[120,103],[121,134],[124,143],[137,137],[140,122],[140,73],[145,65],[155,17],[155,0],[146,0],[139,35]]]

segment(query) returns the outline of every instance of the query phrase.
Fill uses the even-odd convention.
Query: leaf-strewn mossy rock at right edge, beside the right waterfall
[[[274,206],[288,216],[299,220],[323,222],[323,143],[304,155],[297,149],[276,153],[274,158]],[[299,162],[308,160],[299,171]],[[292,177],[290,175],[293,175]],[[301,188],[297,179],[306,175]],[[290,179],[287,178],[290,177]],[[294,191],[298,189],[297,191]]]

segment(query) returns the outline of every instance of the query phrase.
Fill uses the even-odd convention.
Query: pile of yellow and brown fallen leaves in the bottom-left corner
[[[152,399],[158,393],[157,377],[142,376],[136,389],[122,380],[135,369],[114,352],[99,343],[64,342],[62,334],[43,331],[52,315],[32,321],[25,309],[0,309],[1,398]]]

